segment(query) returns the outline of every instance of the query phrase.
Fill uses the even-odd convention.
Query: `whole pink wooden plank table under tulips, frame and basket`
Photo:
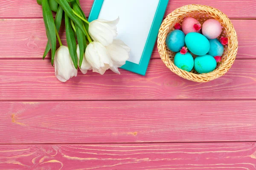
[[[81,0],[89,14],[93,0]],[[256,170],[256,0],[213,6],[239,37],[235,64],[202,84],[154,49],[145,77],[121,71],[54,76],[41,7],[0,1],[0,170]],[[64,37],[64,31],[61,35]]]

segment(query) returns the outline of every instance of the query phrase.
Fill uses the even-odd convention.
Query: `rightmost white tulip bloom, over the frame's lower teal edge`
[[[116,74],[120,74],[118,68],[122,67],[129,59],[131,49],[121,40],[113,40],[113,43],[106,46],[106,49],[113,62],[113,67],[110,69]]]

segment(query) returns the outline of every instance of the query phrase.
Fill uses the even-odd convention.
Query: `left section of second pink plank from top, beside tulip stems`
[[[0,20],[0,25],[0,58],[42,58],[47,44],[43,19]],[[64,29],[60,36],[67,45]]]

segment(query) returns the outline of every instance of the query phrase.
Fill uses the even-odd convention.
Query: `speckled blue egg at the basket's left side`
[[[166,37],[166,45],[173,52],[180,51],[185,45],[185,34],[180,30],[173,30]]]

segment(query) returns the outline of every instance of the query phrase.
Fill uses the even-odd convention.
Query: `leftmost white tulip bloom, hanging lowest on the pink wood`
[[[72,77],[77,76],[77,69],[70,57],[67,46],[61,45],[54,57],[55,76],[61,82],[66,82]]]

